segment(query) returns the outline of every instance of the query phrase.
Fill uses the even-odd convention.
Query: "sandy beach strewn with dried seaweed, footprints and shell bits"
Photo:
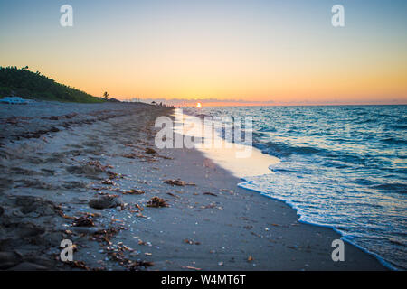
[[[386,270],[348,243],[334,262],[339,234],[239,188],[205,154],[157,149],[156,117],[171,108],[0,110],[2,270]],[[70,262],[62,240],[73,244]]]

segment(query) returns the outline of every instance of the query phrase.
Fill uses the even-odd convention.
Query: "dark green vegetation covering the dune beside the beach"
[[[103,98],[55,82],[40,72],[32,72],[28,67],[0,67],[0,98],[15,97],[52,100],[62,102],[104,102]]]

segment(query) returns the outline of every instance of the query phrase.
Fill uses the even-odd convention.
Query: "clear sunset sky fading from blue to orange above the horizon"
[[[407,104],[406,16],[405,0],[0,0],[0,66],[118,99]]]

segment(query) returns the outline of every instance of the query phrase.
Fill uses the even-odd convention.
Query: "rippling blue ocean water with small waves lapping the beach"
[[[283,200],[300,221],[334,228],[384,265],[407,269],[407,106],[187,112],[252,117],[252,145],[279,162],[270,173],[243,177],[241,188]]]

